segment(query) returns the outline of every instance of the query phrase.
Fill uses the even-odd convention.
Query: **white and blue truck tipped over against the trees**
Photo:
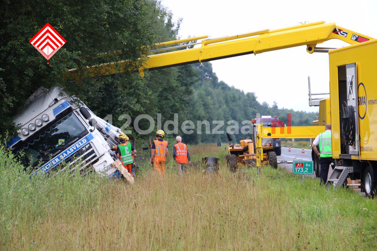
[[[21,156],[33,173],[59,168],[64,170],[80,163],[80,173],[88,172],[119,178],[113,167],[116,160],[112,145],[122,133],[117,127],[94,115],[78,98],[70,97],[58,87],[40,87],[28,99],[22,112],[15,115],[20,126],[8,148]],[[61,165],[63,162],[69,163]]]

